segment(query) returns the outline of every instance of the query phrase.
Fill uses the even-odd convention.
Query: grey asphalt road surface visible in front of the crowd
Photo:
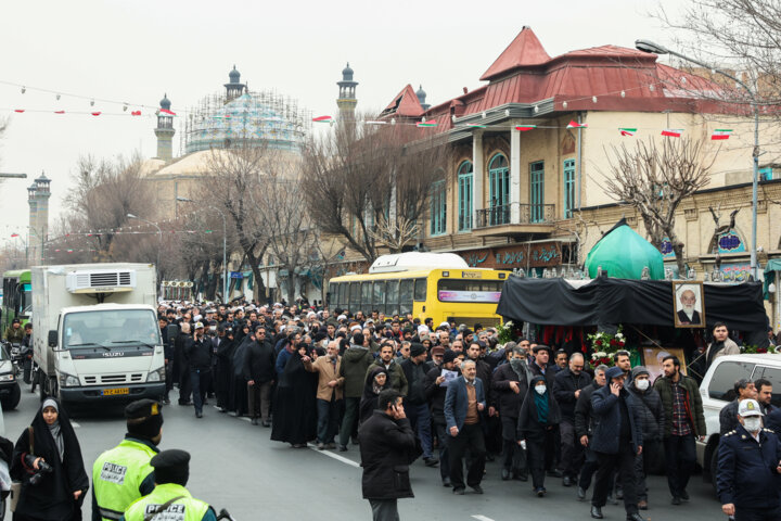
[[[176,391],[171,393],[175,397]],[[176,404],[176,401],[172,401]],[[5,411],[5,436],[13,442],[29,424],[39,401],[23,390],[16,410]],[[88,473],[98,455],[116,445],[125,433],[121,408],[91,408],[74,415]],[[271,442],[270,429],[252,425],[248,419],[233,418],[208,406],[196,419],[192,407],[172,405],[164,409],[162,448],[182,448],[193,458],[188,488],[216,510],[227,508],[238,521],[277,520],[370,520],[369,503],[361,499],[357,446],[346,453],[293,449]],[[498,463],[488,463],[483,481],[485,494],[453,496],[440,485],[439,470],[418,461],[411,480],[415,497],[399,500],[405,520],[510,521],[517,519],[590,519],[588,503],[579,503],[575,488],[548,478],[548,495],[538,498],[529,483],[502,482]],[[726,519],[714,498],[710,484],[695,475],[690,485],[691,501],[679,507],[669,504],[666,480],[650,479],[650,509],[641,512],[649,520],[713,521]],[[469,491],[469,490],[468,490]],[[590,498],[590,494],[588,496]],[[85,519],[90,519],[89,501]],[[623,505],[603,509],[606,520],[623,520]]]

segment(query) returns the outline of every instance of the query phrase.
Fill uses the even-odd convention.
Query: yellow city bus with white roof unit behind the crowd
[[[386,317],[411,314],[421,321],[432,318],[435,326],[444,321],[470,328],[475,323],[498,326],[501,317],[496,309],[508,275],[471,268],[456,254],[383,255],[367,275],[331,279],[328,303],[332,310],[361,310],[366,316],[376,310]]]

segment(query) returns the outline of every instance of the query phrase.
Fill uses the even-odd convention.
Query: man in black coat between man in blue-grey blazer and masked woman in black
[[[512,358],[499,366],[491,379],[491,403],[499,409],[502,434],[502,480],[511,473],[521,481],[528,479],[526,450],[515,443],[515,431],[521,404],[523,404],[532,381],[532,371],[526,365],[526,350],[520,345],[511,347]]]

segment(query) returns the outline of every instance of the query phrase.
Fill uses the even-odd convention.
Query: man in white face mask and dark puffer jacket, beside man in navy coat
[[[632,381],[631,384],[627,385],[627,391],[635,398],[643,433],[643,453],[635,457],[635,472],[638,479],[638,508],[648,510],[645,476],[650,463],[662,455],[664,411],[662,410],[662,398],[656,390],[651,386],[649,370],[643,366],[637,366],[631,372]]]

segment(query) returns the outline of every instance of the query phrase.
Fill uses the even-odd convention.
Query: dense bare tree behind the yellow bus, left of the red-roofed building
[[[445,178],[447,145],[409,125],[340,125],[304,151],[303,191],[327,234],[344,238],[367,262],[400,251]]]

